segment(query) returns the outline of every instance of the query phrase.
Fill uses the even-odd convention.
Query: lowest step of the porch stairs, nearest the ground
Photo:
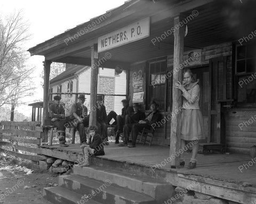
[[[61,186],[44,188],[43,197],[54,204],[101,204],[92,199],[83,200],[81,194],[62,188]]]

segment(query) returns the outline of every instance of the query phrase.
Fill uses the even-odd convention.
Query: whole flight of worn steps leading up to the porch
[[[149,177],[74,166],[74,174],[59,176],[59,186],[44,188],[43,196],[54,204],[162,204],[173,192],[172,185]]]

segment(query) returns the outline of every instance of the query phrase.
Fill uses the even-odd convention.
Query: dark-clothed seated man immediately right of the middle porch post
[[[107,126],[107,112],[104,106],[104,101],[102,96],[97,96],[96,101],[96,111],[97,111],[97,126],[99,134],[103,140],[103,144],[109,145],[108,143],[108,126]]]

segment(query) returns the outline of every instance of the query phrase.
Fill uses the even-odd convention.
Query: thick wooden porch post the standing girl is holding
[[[182,98],[181,91],[175,88],[175,83],[180,81],[182,83],[183,72],[183,47],[184,47],[184,35],[185,25],[180,27],[179,23],[182,21],[181,16],[174,18],[175,29],[174,32],[174,54],[173,54],[173,86],[172,86],[172,121],[171,121],[171,140],[170,140],[170,157],[171,166],[178,167],[180,165],[180,157],[178,154],[180,149],[180,122],[181,122],[181,107]],[[183,24],[183,23],[182,23]],[[178,155],[178,156],[177,156]]]

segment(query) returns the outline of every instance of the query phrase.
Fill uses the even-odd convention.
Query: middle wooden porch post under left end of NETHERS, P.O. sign
[[[91,95],[90,95],[90,120],[89,125],[97,124],[96,117],[96,101],[97,101],[97,86],[98,86],[98,73],[99,73],[99,63],[98,63],[98,45],[94,44],[91,46]]]

